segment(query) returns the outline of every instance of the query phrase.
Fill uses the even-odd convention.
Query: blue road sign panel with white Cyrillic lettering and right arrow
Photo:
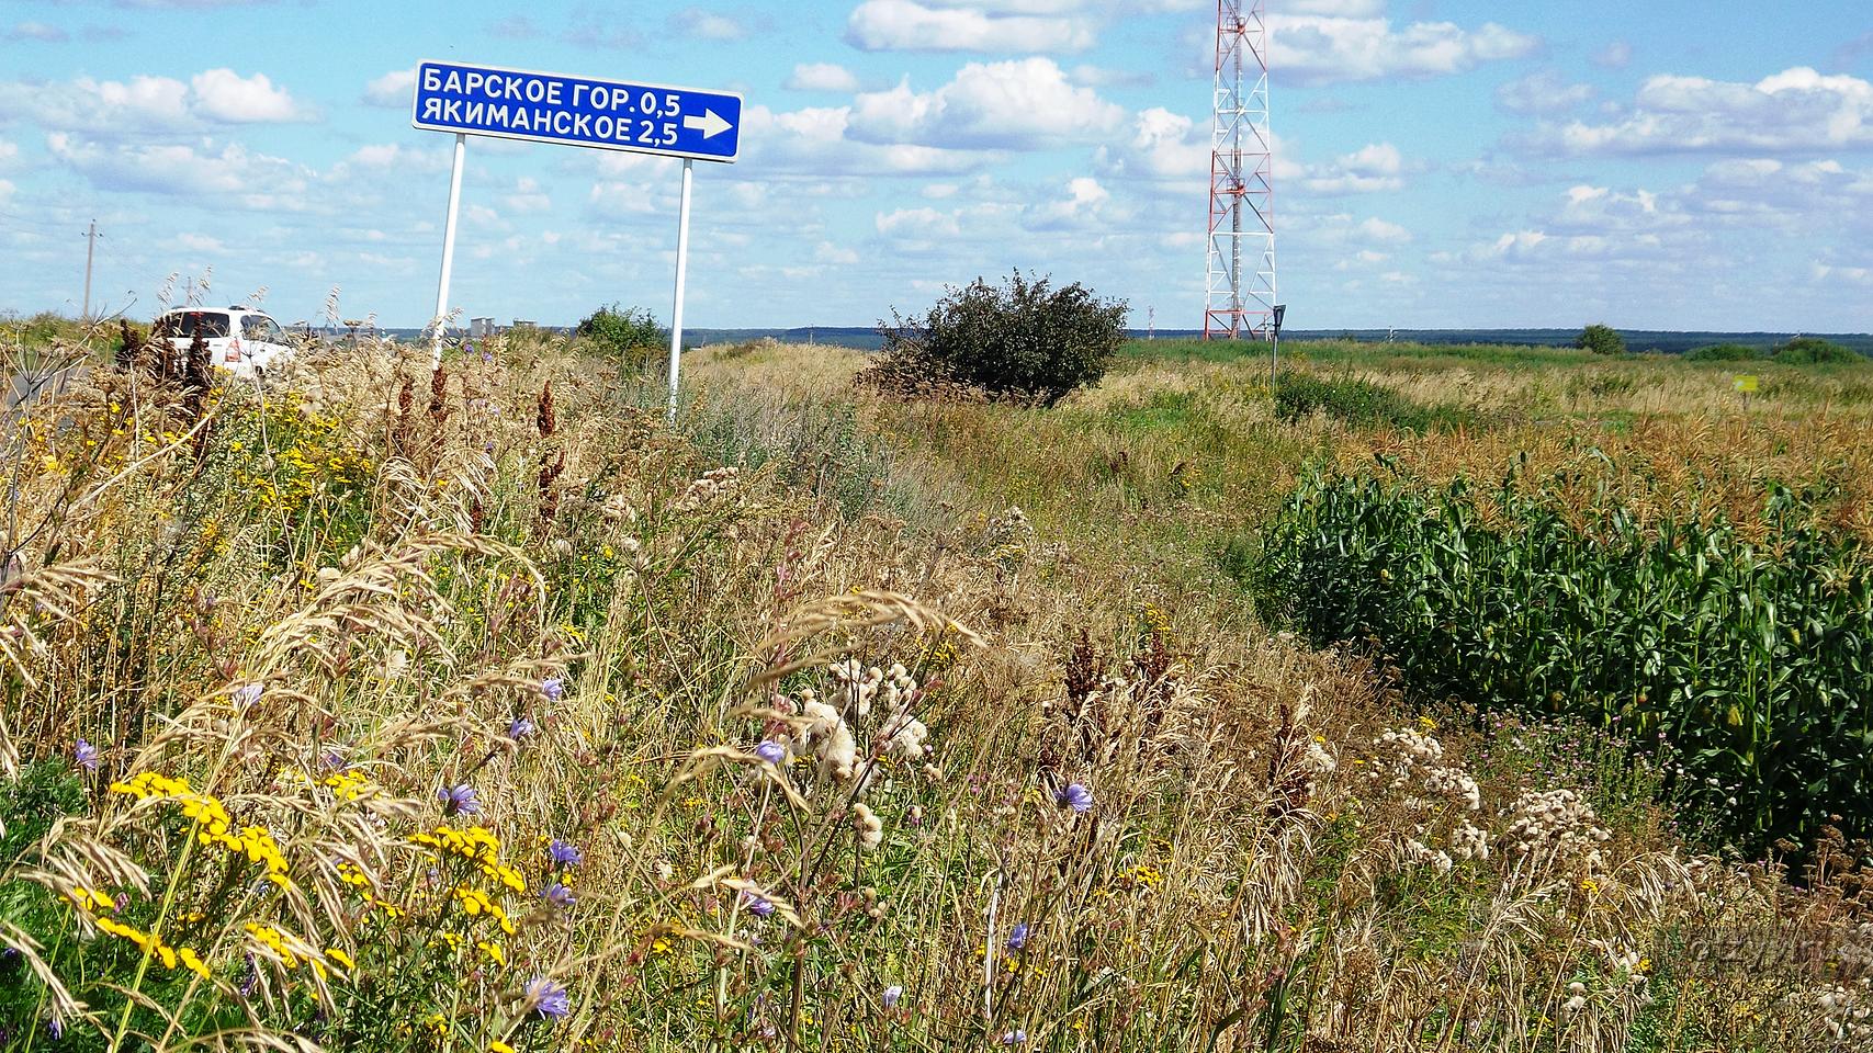
[[[699,161],[734,161],[742,152],[742,96],[732,92],[459,62],[416,67],[410,124]]]

